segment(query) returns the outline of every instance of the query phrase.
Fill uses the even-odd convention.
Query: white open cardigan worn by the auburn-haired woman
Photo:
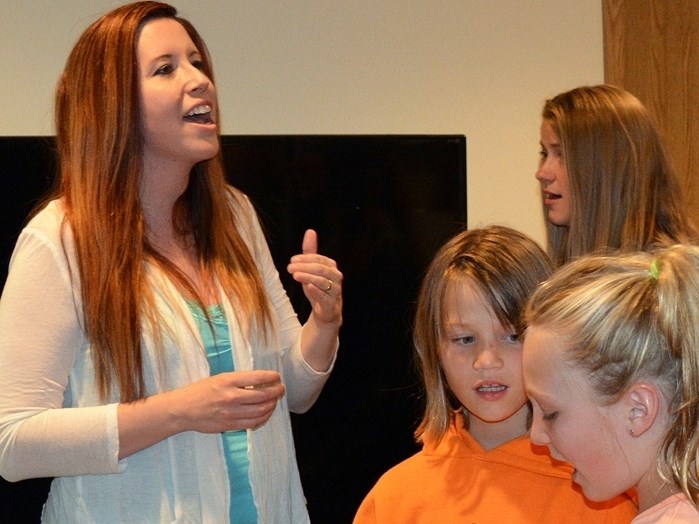
[[[221,437],[193,431],[118,460],[117,397],[97,395],[85,338],[75,250],[60,201],[21,233],[0,300],[0,475],[57,477],[46,522],[197,522],[228,520],[229,487]],[[269,421],[248,431],[250,479],[261,523],[308,521],[289,410],[318,397],[329,370],[304,361],[301,326],[274,267],[250,203],[238,224],[257,262],[275,314],[272,343],[241,337],[233,306],[223,306],[236,368],[280,371],[287,388]],[[144,323],[149,393],[207,377],[202,341],[171,282],[149,268],[164,326],[164,355]]]

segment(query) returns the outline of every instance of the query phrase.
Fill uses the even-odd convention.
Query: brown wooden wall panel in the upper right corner
[[[602,0],[605,81],[653,113],[699,224],[699,2]]]

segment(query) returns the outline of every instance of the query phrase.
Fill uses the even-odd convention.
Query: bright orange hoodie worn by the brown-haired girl
[[[384,473],[354,524],[629,524],[638,513],[626,495],[585,499],[572,468],[553,465],[526,436],[485,451],[461,426]]]

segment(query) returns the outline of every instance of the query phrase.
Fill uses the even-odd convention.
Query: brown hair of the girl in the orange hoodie
[[[520,310],[553,266],[531,238],[505,226],[462,231],[437,252],[418,295],[413,343],[425,394],[425,410],[415,438],[440,441],[459,407],[444,376],[441,348],[445,342],[446,297],[468,279],[502,326],[524,331]]]

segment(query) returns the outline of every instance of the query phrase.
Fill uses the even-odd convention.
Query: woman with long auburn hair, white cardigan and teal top
[[[55,477],[47,522],[307,522],[289,411],[332,369],[342,273],[287,270],[226,185],[206,46],[159,2],[86,29],[56,93],[60,183],[0,301],[0,475]]]

